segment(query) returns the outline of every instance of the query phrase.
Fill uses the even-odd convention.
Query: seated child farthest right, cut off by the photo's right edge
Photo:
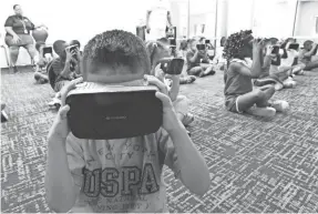
[[[304,49],[299,52],[298,63],[304,64],[305,71],[310,71],[318,68],[318,60],[312,61],[312,55],[317,54],[318,44],[310,40],[304,43]]]

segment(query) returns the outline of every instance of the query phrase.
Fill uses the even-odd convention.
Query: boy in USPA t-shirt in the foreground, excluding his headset
[[[64,86],[62,106],[49,133],[45,188],[57,212],[167,212],[163,165],[193,193],[209,187],[207,165],[174,112],[166,85],[150,73],[150,60],[141,39],[125,31],[94,37],[82,58],[85,82],[158,88],[163,104],[162,128],[153,134],[117,140],[81,140],[70,133],[66,94],[78,80]]]

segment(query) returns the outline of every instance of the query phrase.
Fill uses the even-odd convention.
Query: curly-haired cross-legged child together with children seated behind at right
[[[299,44],[295,42],[287,39],[279,44],[275,38],[257,40],[252,31],[232,34],[224,48],[228,61],[224,90],[226,109],[259,116],[274,116],[276,112],[288,110],[286,101],[270,100],[275,91],[295,86],[295,74],[318,68],[317,59],[311,60],[317,54],[317,44],[306,41],[298,53]],[[253,89],[253,79],[256,89]]]

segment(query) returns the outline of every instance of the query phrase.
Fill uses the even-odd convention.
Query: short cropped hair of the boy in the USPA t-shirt
[[[83,73],[85,74],[86,62],[107,64],[112,67],[134,67],[137,63],[144,73],[150,73],[151,64],[144,42],[131,32],[111,30],[95,35],[84,47]],[[89,71],[93,72],[93,71]],[[132,73],[140,71],[132,70]],[[114,74],[114,73],[112,73]]]

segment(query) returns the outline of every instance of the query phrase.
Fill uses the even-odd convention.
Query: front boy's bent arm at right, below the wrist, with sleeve
[[[184,125],[178,121],[168,134],[164,134],[163,131],[160,142],[165,147],[163,151],[166,155],[165,164],[175,172],[176,177],[181,179],[192,193],[204,195],[211,184],[209,171]]]

